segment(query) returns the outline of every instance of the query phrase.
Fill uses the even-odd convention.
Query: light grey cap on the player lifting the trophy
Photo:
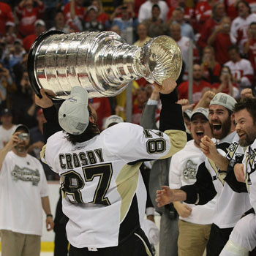
[[[89,124],[88,92],[75,86],[71,94],[59,108],[59,125],[72,135],[80,135]]]

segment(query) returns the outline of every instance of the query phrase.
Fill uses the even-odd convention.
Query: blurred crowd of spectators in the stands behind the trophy
[[[0,149],[15,124],[31,129],[31,154],[39,158],[45,141],[42,110],[29,84],[27,56],[43,31],[115,31],[130,45],[169,35],[178,43],[183,69],[179,99],[188,98],[189,44],[193,51],[192,102],[206,91],[239,99],[241,90],[255,90],[256,0],[1,0],[0,1]],[[145,79],[132,83],[132,123],[140,124],[143,105],[152,93]],[[91,99],[98,125],[108,116],[126,120],[126,92]],[[159,116],[159,106],[156,119]],[[57,177],[45,166],[48,179]]]

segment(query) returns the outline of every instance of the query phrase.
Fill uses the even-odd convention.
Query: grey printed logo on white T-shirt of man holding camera
[[[37,186],[40,181],[39,170],[31,170],[28,167],[21,168],[18,165],[15,165],[11,175],[16,181],[31,181],[34,186]]]

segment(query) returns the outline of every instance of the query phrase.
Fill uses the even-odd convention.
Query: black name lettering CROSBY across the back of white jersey
[[[73,169],[85,165],[94,165],[98,162],[105,162],[102,156],[102,148],[72,154],[59,154],[61,169]]]

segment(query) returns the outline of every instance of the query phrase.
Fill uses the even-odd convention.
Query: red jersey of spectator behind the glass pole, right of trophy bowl
[[[199,102],[204,88],[212,88],[211,84],[205,80],[200,80],[199,84],[193,83],[193,103]],[[178,86],[178,99],[188,99],[189,81],[185,81]]]

